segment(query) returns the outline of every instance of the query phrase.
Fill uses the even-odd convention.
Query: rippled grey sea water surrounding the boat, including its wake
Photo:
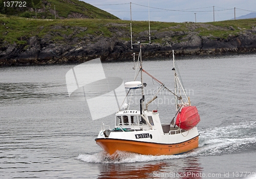
[[[0,178],[256,178],[256,55],[177,57],[177,64],[201,116],[199,148],[178,156],[120,152],[115,160],[94,141],[114,117],[92,120],[84,100],[69,98],[65,75],[77,64],[0,68]],[[143,65],[173,89],[172,61]],[[103,63],[106,76],[124,82],[133,81],[132,67]],[[157,89],[145,82],[147,94]],[[164,92],[158,99],[151,108],[168,122],[173,100]]]

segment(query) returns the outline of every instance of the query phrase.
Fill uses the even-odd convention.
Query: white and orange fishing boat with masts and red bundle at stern
[[[145,71],[142,67],[141,44],[139,52],[140,81],[126,82],[128,90],[126,97],[133,90],[141,90],[139,109],[130,110],[128,104],[122,104],[114,117],[115,127],[101,124],[101,130],[95,139],[103,150],[110,155],[117,151],[134,152],[142,155],[178,155],[198,147],[199,133],[197,124],[200,116],[196,106],[191,106],[180,74],[177,70],[173,51],[174,92],[169,90],[161,81]],[[134,55],[135,56],[135,55]],[[160,87],[154,97],[145,103],[143,75],[149,75]],[[138,73],[139,74],[139,73]],[[149,110],[150,105],[161,89],[169,91],[175,97],[176,111],[169,117],[168,123],[161,123],[158,110]],[[122,108],[122,109],[121,109]]]

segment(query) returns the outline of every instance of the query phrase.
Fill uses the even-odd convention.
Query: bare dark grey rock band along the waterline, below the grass
[[[222,55],[256,52],[256,27],[250,30],[241,30],[238,34],[230,33],[227,38],[214,36],[200,36],[198,28],[212,28],[219,31],[233,31],[232,27],[214,27],[209,24],[189,24],[189,31],[175,31],[170,27],[166,31],[152,31],[153,43],[143,45],[143,58],[168,58],[175,50],[176,56]],[[69,28],[55,26],[56,28]],[[0,42],[0,66],[33,65],[33,64],[62,64],[85,62],[100,57],[102,61],[127,60],[131,54],[138,52],[138,47],[131,49],[130,32],[116,27],[109,29],[111,37],[104,35],[87,35],[75,37],[77,33],[87,31],[84,27],[75,27],[73,34],[58,34],[49,31],[44,37],[20,37],[26,44],[10,44]],[[148,40],[148,32],[135,34],[134,39],[141,42]],[[62,40],[54,40],[61,36]],[[177,37],[180,37],[177,40]],[[157,42],[159,41],[159,42]],[[135,42],[135,41],[134,41]]]

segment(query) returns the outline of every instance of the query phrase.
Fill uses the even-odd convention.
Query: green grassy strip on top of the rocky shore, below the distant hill
[[[34,19],[22,17],[7,17],[0,14],[0,43],[18,43],[24,44],[32,36],[43,37],[51,33],[56,40],[61,41],[63,36],[74,34],[74,29],[86,28],[86,30],[75,33],[72,38],[88,35],[94,36],[112,36],[111,29],[124,31],[129,34],[130,21],[115,19]],[[67,28],[68,27],[68,28]],[[230,29],[232,27],[233,29]],[[208,36],[213,38],[225,39],[228,36],[237,36],[244,30],[250,30],[256,27],[256,19],[228,20],[207,23],[175,23],[175,22],[151,22],[152,36],[155,32],[195,32],[199,36]],[[148,22],[134,21],[133,35],[148,30]],[[146,36],[146,35],[145,35]],[[120,37],[123,40],[130,40],[130,36]],[[182,39],[182,37],[173,37],[173,40]],[[54,39],[53,39],[54,40]],[[153,39],[152,42],[161,43],[161,38]]]

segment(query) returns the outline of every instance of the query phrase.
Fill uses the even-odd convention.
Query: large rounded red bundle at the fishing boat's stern
[[[178,113],[176,119],[176,125],[181,129],[190,130],[200,122],[200,116],[198,114],[197,107],[188,106],[182,108]]]

